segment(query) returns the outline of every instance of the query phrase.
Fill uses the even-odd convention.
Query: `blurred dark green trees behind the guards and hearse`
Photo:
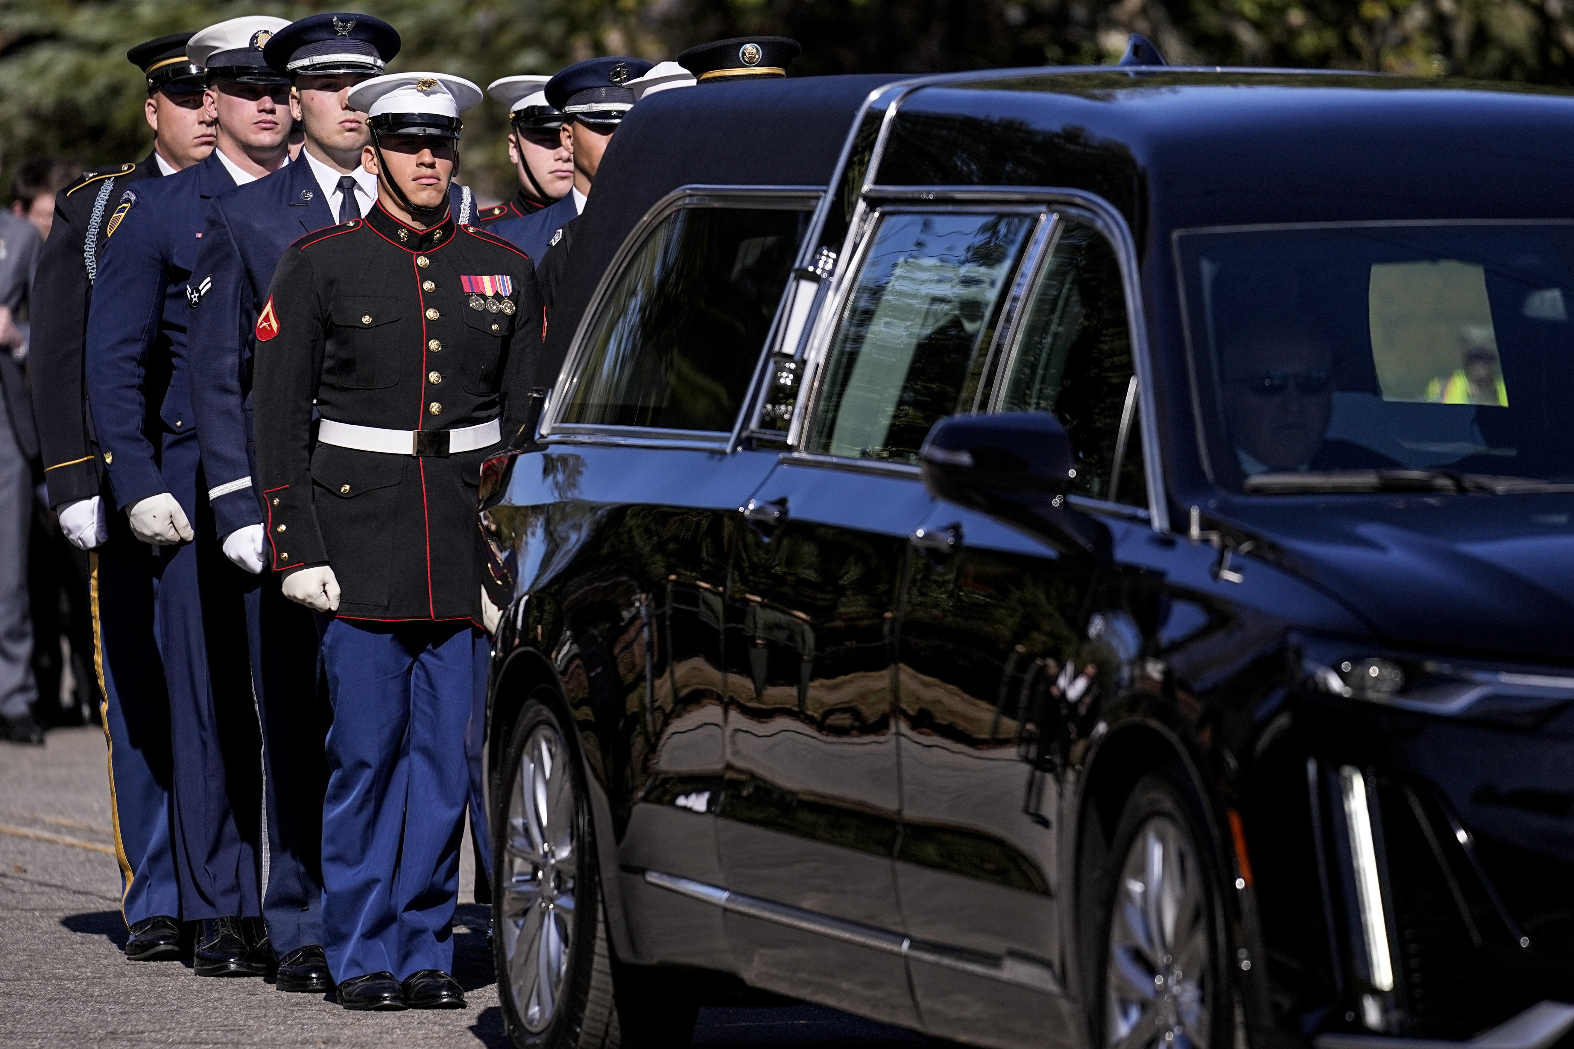
[[[1118,58],[1136,31],[1171,63],[1574,82],[1574,0],[0,0],[0,179],[30,156],[98,165],[146,153],[132,44],[238,14],[331,9],[398,27],[390,71],[482,86],[754,33],[803,42],[795,74],[1091,64]],[[505,131],[491,101],[466,115],[461,176],[491,197],[512,192]]]

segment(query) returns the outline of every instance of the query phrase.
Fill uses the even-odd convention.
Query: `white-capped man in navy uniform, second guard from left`
[[[201,288],[190,280],[208,201],[285,164],[290,83],[261,46],[286,22],[201,30],[203,107],[217,145],[176,175],[116,189],[87,329],[87,387],[115,506],[159,557],[154,629],[170,698],[173,832],[181,917],[201,920],[200,977],[263,975],[257,849],[261,775],[246,662],[241,574],[214,536],[187,355]],[[242,918],[250,918],[242,926]]]

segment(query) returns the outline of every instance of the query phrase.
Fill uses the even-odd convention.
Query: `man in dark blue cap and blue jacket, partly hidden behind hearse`
[[[634,105],[634,91],[628,82],[647,72],[650,63],[639,58],[587,58],[565,66],[546,82],[546,104],[563,113],[559,134],[563,145],[573,149],[573,189],[549,208],[521,219],[505,219],[491,228],[529,255],[537,266],[552,245],[554,234],[586,209],[606,143],[612,140],[623,113]]]

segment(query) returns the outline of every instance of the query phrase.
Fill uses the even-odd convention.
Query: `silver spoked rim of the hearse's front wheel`
[[[1169,816],[1138,829],[1110,915],[1107,1049],[1207,1049],[1214,959],[1203,878]]]

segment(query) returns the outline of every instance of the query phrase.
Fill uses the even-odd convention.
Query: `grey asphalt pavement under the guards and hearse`
[[[508,1044],[486,907],[467,893],[453,934],[453,975],[469,997],[463,1011],[349,1013],[264,980],[200,980],[183,963],[127,963],[124,942],[104,733],[61,728],[44,747],[0,742],[0,1046]],[[704,1010],[693,1044],[946,1046],[809,1005]]]

